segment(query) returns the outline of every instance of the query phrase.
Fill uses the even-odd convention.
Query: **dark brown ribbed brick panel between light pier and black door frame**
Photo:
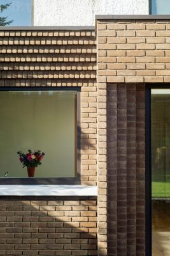
[[[145,84],[108,84],[108,255],[145,255]]]

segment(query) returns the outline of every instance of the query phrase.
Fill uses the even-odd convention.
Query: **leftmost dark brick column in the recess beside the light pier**
[[[117,142],[117,84],[107,88],[108,123],[108,255],[117,256],[117,181],[118,181],[118,142]]]

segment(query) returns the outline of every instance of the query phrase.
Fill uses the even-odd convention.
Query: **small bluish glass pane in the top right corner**
[[[170,14],[170,1],[152,0],[152,14]]]

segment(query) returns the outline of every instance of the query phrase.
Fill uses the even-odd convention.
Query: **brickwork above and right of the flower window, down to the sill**
[[[81,87],[81,184],[97,182],[94,31],[0,31],[0,86]]]

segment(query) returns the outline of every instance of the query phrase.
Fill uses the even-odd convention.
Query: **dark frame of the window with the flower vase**
[[[60,185],[64,185],[64,184],[80,184],[80,176],[81,176],[81,129],[80,129],[80,113],[81,113],[81,104],[80,104],[80,92],[81,92],[81,88],[80,87],[41,87],[41,86],[37,86],[37,87],[0,87],[0,92],[4,92],[4,91],[76,91],[77,92],[77,97],[76,97],[76,119],[77,119],[77,129],[76,129],[76,164],[75,164],[75,170],[76,170],[76,175],[75,177],[63,177],[63,178],[0,178],[0,185],[4,185],[4,184],[8,184],[8,185],[12,185],[12,184],[22,184],[22,185],[42,185],[42,184],[48,184],[48,185],[55,185],[55,184],[60,184]]]

